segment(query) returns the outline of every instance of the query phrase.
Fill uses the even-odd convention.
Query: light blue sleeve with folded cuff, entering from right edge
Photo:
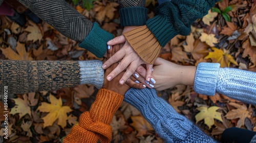
[[[256,73],[237,68],[220,68],[219,63],[199,63],[194,89],[214,96],[215,92],[242,102],[256,104]]]

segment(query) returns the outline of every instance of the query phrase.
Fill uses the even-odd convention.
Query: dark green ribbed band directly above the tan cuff
[[[165,46],[170,39],[178,35],[177,30],[167,18],[157,15],[146,21],[146,26],[155,35],[161,46]],[[190,31],[188,31],[187,35]]]

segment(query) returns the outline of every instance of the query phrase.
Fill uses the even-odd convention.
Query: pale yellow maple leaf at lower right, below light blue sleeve
[[[204,124],[207,125],[209,128],[214,125],[214,119],[223,122],[221,117],[222,113],[216,111],[218,109],[218,106],[211,106],[209,108],[204,106],[198,107],[197,110],[199,110],[200,112],[195,116],[196,122],[198,123],[199,121],[204,119]]]

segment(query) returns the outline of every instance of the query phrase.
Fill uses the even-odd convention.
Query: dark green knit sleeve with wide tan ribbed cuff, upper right
[[[143,30],[141,27],[135,28],[132,31],[124,33],[125,38],[133,49],[147,63],[154,63],[158,56],[161,47],[176,35],[188,35],[190,33],[190,25],[198,18],[203,17],[208,13],[208,10],[215,5],[215,1],[210,0],[172,0],[164,2],[156,9],[156,16],[146,21],[146,27]],[[144,26],[142,26],[144,27]],[[136,33],[140,31],[140,33]],[[148,39],[148,32],[154,35],[154,38]],[[155,43],[155,45],[147,44]],[[150,55],[147,51],[158,51]],[[143,53],[139,53],[144,51]],[[153,61],[153,62],[152,62]]]

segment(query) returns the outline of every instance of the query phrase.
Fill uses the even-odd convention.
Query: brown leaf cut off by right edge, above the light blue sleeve
[[[249,40],[243,42],[242,48],[244,49],[242,57],[249,57],[250,61],[255,65],[256,64],[256,46],[252,46],[249,43]]]

